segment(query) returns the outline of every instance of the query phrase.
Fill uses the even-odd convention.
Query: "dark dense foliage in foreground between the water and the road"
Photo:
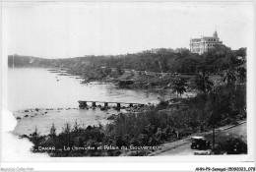
[[[73,127],[66,124],[59,135],[56,135],[52,125],[48,136],[39,136],[35,130],[29,139],[34,143],[33,151],[36,151],[38,146],[62,148],[59,151],[45,150],[52,156],[115,156],[125,151],[121,149],[122,146],[153,146],[172,142],[193,133],[209,131],[213,123],[216,127],[235,124],[238,120],[246,118],[245,92],[244,85],[234,89],[219,86],[215,90],[215,97],[211,93],[202,93],[194,98],[180,99],[182,103],[175,106],[160,103],[145,112],[120,113],[113,122],[105,126],[82,128],[77,122]],[[96,149],[104,145],[118,149]],[[64,146],[91,146],[95,149],[63,150]],[[146,155],[149,152],[131,151],[128,155]]]

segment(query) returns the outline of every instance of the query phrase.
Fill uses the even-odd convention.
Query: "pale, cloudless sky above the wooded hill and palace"
[[[7,54],[43,58],[189,48],[217,29],[231,49],[253,35],[250,2],[3,2]]]

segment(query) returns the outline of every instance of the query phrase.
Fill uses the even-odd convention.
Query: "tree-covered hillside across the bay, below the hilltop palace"
[[[242,59],[237,59],[237,56]],[[134,69],[152,72],[199,73],[208,71],[218,73],[231,66],[241,64],[246,56],[246,49],[231,50],[222,45],[216,46],[202,55],[191,53],[188,49],[164,49],[143,51],[134,54],[85,56],[67,59],[41,59],[29,56],[9,55],[8,65],[12,67],[43,66],[68,68],[79,74],[102,66],[117,69]]]

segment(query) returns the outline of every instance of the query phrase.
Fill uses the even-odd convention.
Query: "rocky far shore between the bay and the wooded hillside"
[[[78,79],[83,79],[81,84],[91,84],[94,82],[105,84],[111,83],[120,88],[129,89],[171,89],[171,84],[176,79],[183,79],[188,83],[187,89],[194,91],[191,85],[193,76],[147,76],[136,73],[118,73],[106,72],[101,69],[93,69],[89,74],[78,72],[75,69],[48,69],[51,73],[57,73],[60,76],[75,76]]]

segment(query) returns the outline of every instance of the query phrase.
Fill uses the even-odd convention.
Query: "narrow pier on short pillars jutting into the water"
[[[84,107],[88,106],[88,102],[92,103],[93,107],[96,107],[96,103],[104,104],[104,107],[107,107],[108,104],[116,104],[116,108],[121,108],[121,104],[129,104],[129,107],[133,107],[133,105],[144,106],[143,103],[128,103],[128,102],[112,102],[112,101],[87,101],[87,100],[79,100],[79,106]]]

